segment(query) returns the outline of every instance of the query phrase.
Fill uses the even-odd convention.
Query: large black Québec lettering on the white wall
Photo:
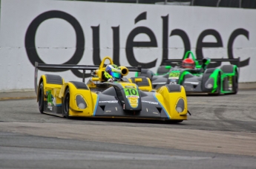
[[[138,22],[142,20],[147,19],[147,12],[140,13],[140,15],[137,16],[137,18],[134,19],[134,23],[137,24]],[[65,21],[67,21],[75,30],[76,32],[76,51],[74,52],[73,56],[65,63],[63,64],[78,64],[79,61],[82,59],[83,54],[85,52],[85,35],[82,30],[82,26],[79,24],[79,21],[76,20],[72,15],[65,13],[60,10],[50,10],[45,13],[42,13],[38,15],[36,18],[33,19],[33,21],[28,25],[27,32],[25,35],[25,48],[27,52],[27,57],[29,58],[30,63],[34,65],[35,62],[44,63],[40,56],[38,55],[38,52],[36,52],[36,30],[39,28],[39,25],[42,24],[44,21],[50,18],[61,18]],[[177,35],[180,36],[180,38],[183,41],[183,47],[184,47],[184,54],[186,51],[191,50],[191,42],[189,39],[188,34],[181,29],[174,29],[174,30],[168,30],[168,21],[169,16],[161,16],[162,18],[162,57],[160,59],[167,59],[168,58],[168,38]],[[111,27],[113,31],[113,61],[117,65],[119,65],[119,26],[118,27]],[[91,26],[92,30],[92,37],[93,37],[93,63],[95,65],[99,65],[101,63],[100,59],[100,46],[99,46],[99,26],[93,27]],[[134,41],[134,38],[139,34],[145,34],[148,35],[148,38],[150,41]],[[212,35],[216,39],[216,42],[203,42],[203,38],[205,38],[207,35]],[[233,30],[233,32],[230,32],[229,40],[227,41],[227,56],[228,58],[234,58],[233,55],[233,44],[236,40],[237,36],[243,35],[244,38],[246,38],[249,41],[249,31],[245,30],[243,28],[236,28]],[[200,35],[197,38],[196,43],[196,55],[198,59],[202,59],[203,56],[203,48],[220,48],[223,47],[223,40],[221,38],[220,32],[217,32],[217,30],[209,29],[209,30],[203,30],[203,32],[200,33]],[[141,65],[142,68],[150,69],[156,66],[157,59],[154,61],[148,62],[148,63],[141,63],[138,62],[134,55],[134,47],[158,47],[157,45],[157,38],[156,35],[154,35],[154,32],[148,28],[148,27],[135,27],[131,32],[128,34],[128,37],[126,38],[126,45],[125,45],[125,53],[126,58],[128,60],[128,63],[131,66],[138,66]],[[145,49],[146,50],[146,49]],[[240,66],[248,66],[249,65],[250,58],[246,58],[244,61],[240,61]],[[57,70],[57,69],[48,69],[49,72],[61,72],[64,70]],[[78,70],[71,70],[74,75],[77,77],[82,77],[82,73]],[[87,74],[86,77],[89,77],[91,74]]]

